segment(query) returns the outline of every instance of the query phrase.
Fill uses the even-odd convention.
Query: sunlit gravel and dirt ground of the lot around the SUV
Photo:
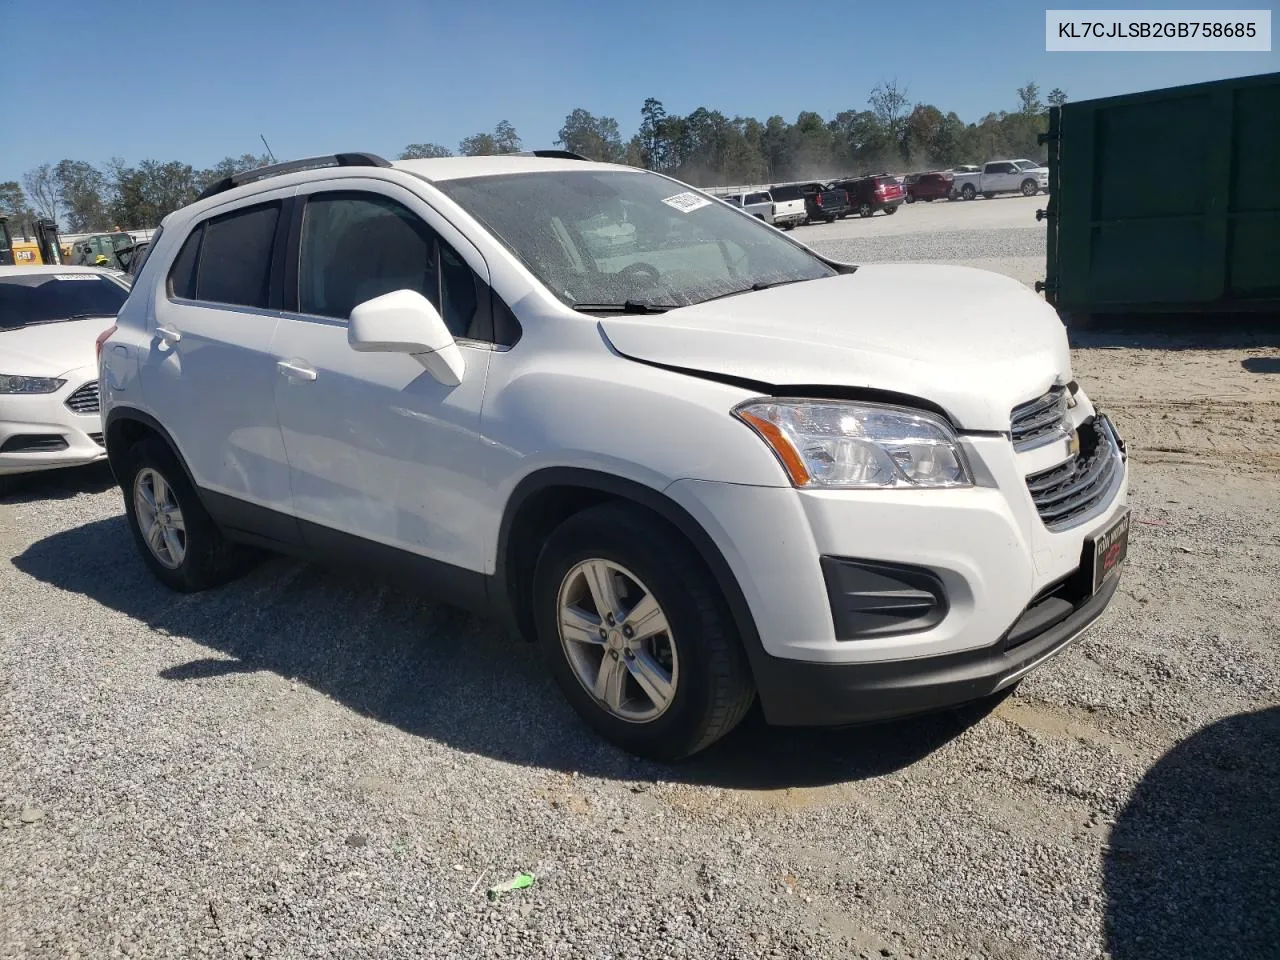
[[[796,236],[1034,279],[1038,202]],[[40,477],[0,502],[0,956],[1274,956],[1280,349],[1075,366],[1132,451],[1103,622],[998,704],[753,718],[677,767],[403,590],[273,559],[166,593],[104,471]]]

